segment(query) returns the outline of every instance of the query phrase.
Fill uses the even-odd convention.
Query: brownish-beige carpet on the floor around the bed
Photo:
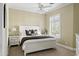
[[[12,46],[9,48],[9,56],[23,56],[23,51],[20,46]],[[57,46],[56,49],[47,49],[34,53],[29,53],[27,56],[75,56],[75,51],[70,51],[63,47]]]

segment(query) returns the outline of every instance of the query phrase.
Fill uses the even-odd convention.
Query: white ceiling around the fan
[[[40,14],[47,13],[47,12],[50,12],[51,10],[55,10],[57,8],[68,5],[68,3],[53,3],[51,4],[51,7],[43,8],[44,10],[40,10],[38,4],[39,3],[8,3],[7,5],[9,8],[19,9],[19,10],[24,10],[24,11],[34,12],[34,13],[40,13]],[[48,4],[49,3],[43,3],[44,6]]]

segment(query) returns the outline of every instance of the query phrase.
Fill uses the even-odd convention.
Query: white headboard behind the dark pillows
[[[39,26],[20,26],[19,31],[22,36],[26,36],[25,30],[37,30],[38,34],[41,35],[41,30]]]

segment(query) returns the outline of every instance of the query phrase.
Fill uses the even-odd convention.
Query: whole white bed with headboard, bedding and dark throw
[[[25,30],[37,30],[36,35],[26,35]],[[20,26],[20,45],[24,55],[44,49],[55,48],[56,38],[42,35],[39,26]]]

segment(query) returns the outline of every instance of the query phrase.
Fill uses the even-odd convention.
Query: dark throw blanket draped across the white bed
[[[52,37],[52,36],[32,36],[32,37],[23,37],[22,40],[21,40],[20,46],[22,46],[23,43],[24,43],[26,40],[45,39],[45,38],[54,38],[54,37]]]

